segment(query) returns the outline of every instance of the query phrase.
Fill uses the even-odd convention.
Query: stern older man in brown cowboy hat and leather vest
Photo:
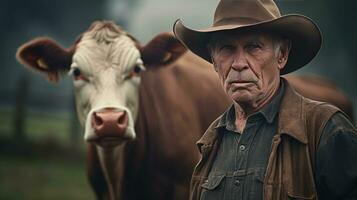
[[[233,105],[197,142],[190,199],[357,199],[357,131],[280,75],[309,63],[320,31],[272,0],[221,0],[212,27],[176,37],[213,63]]]

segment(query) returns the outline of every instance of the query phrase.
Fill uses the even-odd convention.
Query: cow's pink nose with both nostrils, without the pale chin
[[[128,127],[128,115],[125,111],[104,110],[92,115],[94,132],[101,138],[124,138]]]

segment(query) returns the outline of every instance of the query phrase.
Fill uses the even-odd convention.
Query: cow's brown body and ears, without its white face
[[[119,30],[111,22],[98,24],[104,29]],[[100,200],[185,200],[191,173],[199,159],[195,142],[224,112],[230,100],[224,94],[213,67],[191,53],[180,57],[183,47],[172,35],[162,34],[145,47],[139,44],[137,47],[148,70],[140,75],[136,139],[124,138],[125,143],[119,147],[89,143],[89,181]],[[18,58],[51,80],[57,80],[59,72],[69,70],[76,50],[76,46],[65,50],[54,41],[37,39],[21,47]],[[173,62],[178,57],[180,59]],[[298,83],[302,94],[334,103],[346,113],[352,113],[351,107],[344,106],[348,100],[326,81],[299,82],[301,78],[291,79],[293,85]],[[329,95],[307,92],[314,88],[312,85],[329,88],[326,89]],[[112,148],[120,148],[117,151],[120,153],[113,153]]]

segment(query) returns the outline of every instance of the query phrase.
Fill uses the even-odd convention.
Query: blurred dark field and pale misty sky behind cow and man
[[[15,60],[22,43],[49,36],[65,47],[95,20],[114,20],[142,43],[171,31],[181,18],[211,24],[218,0],[2,0],[0,2],[0,199],[94,199],[85,175],[86,144],[73,105],[72,83],[58,84]],[[336,83],[355,104],[357,46],[352,0],[276,0],[283,14],[301,13],[320,26],[318,56],[298,74]]]

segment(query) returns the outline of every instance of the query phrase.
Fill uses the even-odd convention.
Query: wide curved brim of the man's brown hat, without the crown
[[[258,32],[269,31],[287,37],[292,45],[288,62],[281,74],[293,72],[309,63],[321,48],[322,35],[318,26],[308,17],[303,15],[284,15],[274,20],[259,22],[249,25],[223,25],[209,27],[203,30],[193,30],[186,27],[181,20],[174,24],[173,31],[180,40],[193,53],[212,63],[207,44],[214,33],[231,30],[255,30]]]

